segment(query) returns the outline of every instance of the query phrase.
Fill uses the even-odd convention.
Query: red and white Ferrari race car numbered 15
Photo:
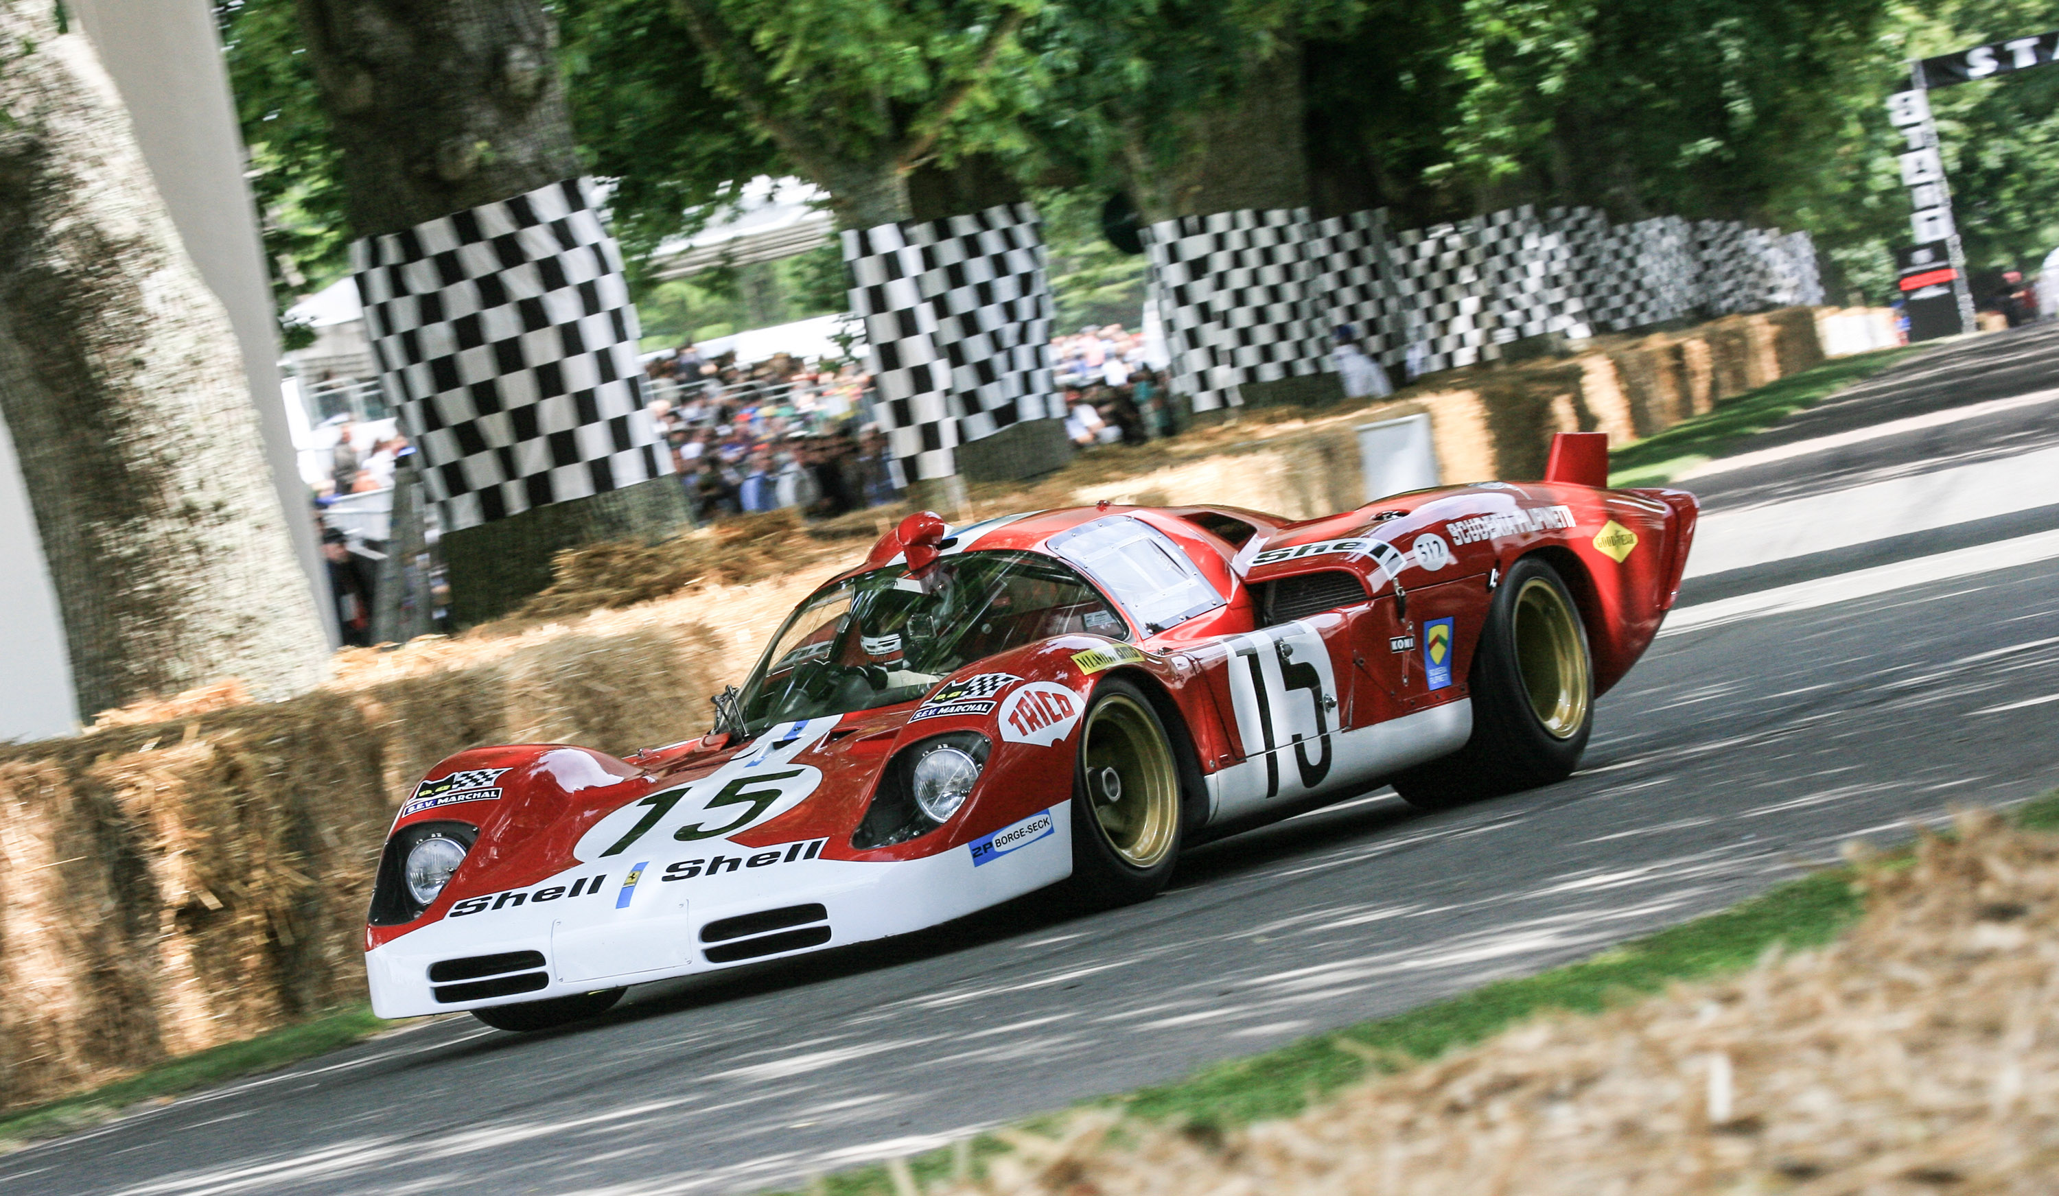
[[[542,1029],[1060,881],[1137,902],[1184,846],[1382,784],[1439,807],[1559,780],[1695,533],[1692,496],[1606,478],[1585,434],[1544,482],[1310,521],[912,515],[787,618],[712,733],[430,770],[379,863],[373,1007]]]

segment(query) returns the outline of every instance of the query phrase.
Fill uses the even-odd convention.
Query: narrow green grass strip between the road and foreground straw
[[[2059,793],[2014,811],[2024,830],[2059,832]],[[1777,889],[1670,926],[1645,939],[1565,963],[1522,980],[1501,980],[1408,1013],[1305,1037],[1260,1056],[1221,1062],[1170,1085],[1139,1089],[1087,1105],[1118,1105],[1151,1122],[1219,1134],[1248,1122],[1287,1118],[1328,1093],[1361,1081],[1373,1066],[1400,1070],[1452,1048],[1480,1042],[1517,1021],[1546,1011],[1598,1013],[1608,1005],[1660,992],[1680,980],[1713,980],[1750,968],[1773,945],[1820,947],[1861,914],[1851,869],[1826,869]],[[1382,1064],[1369,1060],[1380,1058]],[[1050,1128],[1065,1114],[1025,1124]],[[980,1136],[964,1147],[931,1151],[906,1161],[912,1177],[943,1180],[972,1159],[1007,1147]],[[887,1167],[859,1167],[817,1180],[809,1196],[896,1196]]]

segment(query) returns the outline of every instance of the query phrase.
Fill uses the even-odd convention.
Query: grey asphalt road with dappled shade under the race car
[[[1779,461],[1709,473],[1709,515],[2045,449],[2059,406],[1847,434],[2059,385],[2051,362],[2059,329],[1915,358],[1750,445]],[[550,1035],[424,1023],[21,1151],[0,1190],[758,1190],[1587,955],[1847,838],[2059,786],[2059,517],[2038,506],[1925,541],[1888,504],[1874,539],[1699,576],[1707,601],[1600,702],[1563,784],[1431,815],[1371,797],[1200,848],[1145,906],[1030,900]],[[1942,548],[2012,564],[1938,576]],[[1845,578],[1872,581],[1824,599]],[[1800,609],[1695,622],[1804,581]]]

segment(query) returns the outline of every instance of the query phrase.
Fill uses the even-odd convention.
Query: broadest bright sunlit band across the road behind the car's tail
[[[1789,560],[2059,502],[2059,449],[1717,511],[1695,527],[1686,576]]]

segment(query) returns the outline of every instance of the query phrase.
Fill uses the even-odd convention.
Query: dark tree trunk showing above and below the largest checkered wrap
[[[558,29],[537,0],[299,0],[299,12],[358,237],[581,175]],[[453,615],[513,609],[550,583],[560,550],[686,519],[665,476],[451,531]]]

